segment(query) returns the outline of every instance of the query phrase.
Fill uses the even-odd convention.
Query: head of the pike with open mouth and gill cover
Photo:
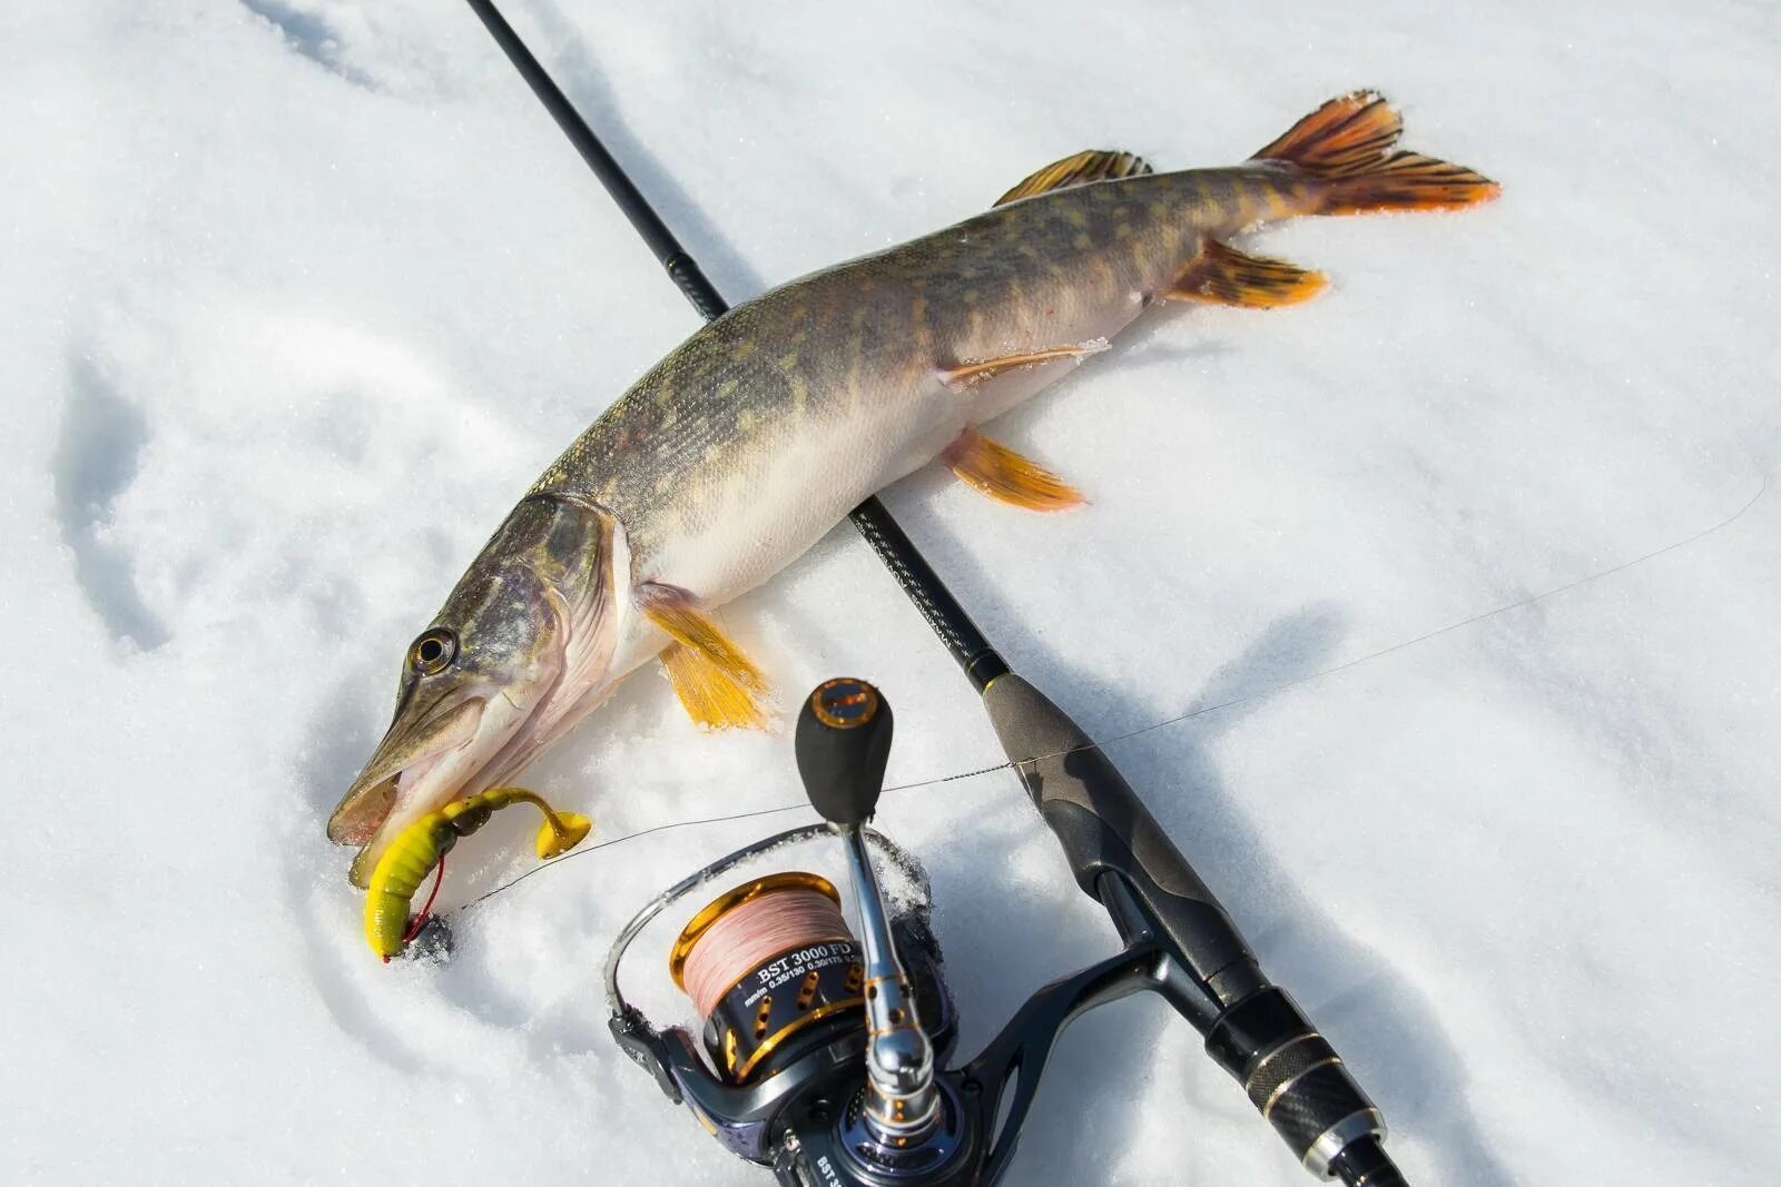
[[[408,646],[395,717],[328,820],[328,840],[360,847],[356,886],[410,824],[500,787],[573,724],[607,680],[629,568],[598,504],[515,507]]]

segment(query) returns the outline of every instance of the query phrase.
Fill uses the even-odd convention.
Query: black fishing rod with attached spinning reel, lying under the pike
[[[693,308],[705,320],[727,313],[696,260],[492,0],[467,2]],[[1108,911],[1126,949],[1035,993],[978,1059],[937,1070],[955,1027],[924,879],[915,908],[889,911],[867,854],[876,835],[864,828],[882,790],[889,705],[864,682],[835,680],[805,701],[796,735],[805,790],[828,824],[700,870],[625,927],[606,970],[620,1046],[725,1146],[771,1166],[782,1183],[992,1183],[1008,1167],[1056,1034],[1086,1009],[1149,989],[1204,1036],[1208,1054],[1309,1171],[1352,1187],[1403,1183],[1380,1144],[1380,1110],[1263,975],[1225,908],[1108,755],[1008,666],[883,504],[869,498],[850,518],[980,692],[1078,886]],[[620,961],[684,893],[830,831],[846,847],[862,943],[839,922],[832,884],[780,874],[709,904],[675,945],[670,968],[705,1018],[714,1073],[684,1030],[659,1032],[623,998]],[[892,865],[919,870],[878,844]],[[785,949],[785,940],[798,943]]]

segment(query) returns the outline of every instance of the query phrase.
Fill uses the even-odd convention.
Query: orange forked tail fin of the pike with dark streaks
[[[1316,214],[1371,210],[1459,210],[1491,201],[1491,178],[1400,148],[1403,119],[1373,91],[1355,91],[1316,109],[1256,153],[1320,182]]]

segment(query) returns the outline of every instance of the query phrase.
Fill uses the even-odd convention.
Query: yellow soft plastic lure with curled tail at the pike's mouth
[[[390,842],[370,874],[365,892],[365,940],[370,950],[390,959],[408,943],[408,909],[415,892],[459,836],[468,836],[511,804],[534,804],[545,813],[538,829],[538,858],[549,860],[573,849],[591,829],[588,817],[557,812],[522,787],[497,787],[452,801],[420,817]]]

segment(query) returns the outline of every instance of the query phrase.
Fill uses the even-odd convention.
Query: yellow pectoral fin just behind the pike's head
[[[748,655],[673,585],[638,587],[638,607],[673,644],[663,651],[663,673],[687,715],[712,730],[766,730],[773,721],[773,692]]]

